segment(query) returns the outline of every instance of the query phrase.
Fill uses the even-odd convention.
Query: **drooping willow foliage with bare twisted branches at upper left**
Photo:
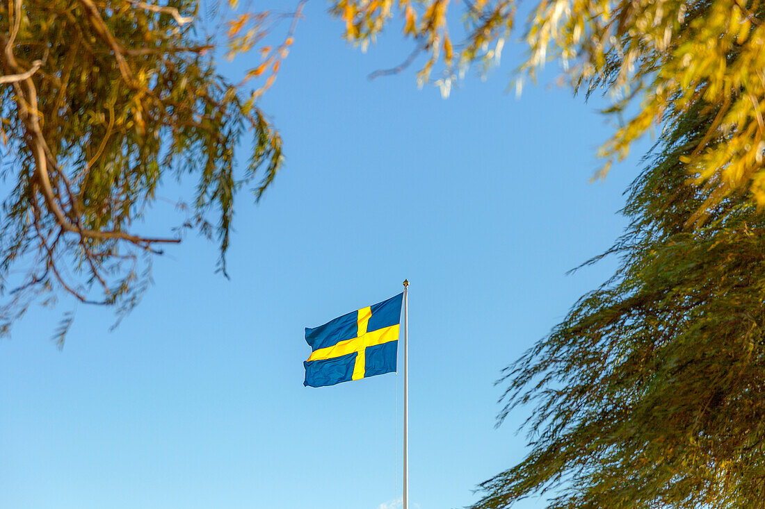
[[[128,312],[150,281],[151,254],[184,229],[216,238],[225,274],[236,191],[255,180],[262,196],[282,142],[242,84],[217,74],[218,41],[192,23],[197,8],[197,0],[0,4],[0,177],[12,183],[0,213],[0,334],[62,290]],[[248,130],[249,164],[237,169]],[[196,180],[189,204],[178,204],[178,231],[134,232],[168,178]]]

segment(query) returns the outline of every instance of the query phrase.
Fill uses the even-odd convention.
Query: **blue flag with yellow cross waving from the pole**
[[[396,371],[403,293],[305,329],[303,385],[324,387]]]

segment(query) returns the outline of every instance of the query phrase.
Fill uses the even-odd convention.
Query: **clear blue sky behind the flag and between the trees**
[[[620,235],[638,163],[590,183],[608,133],[597,104],[506,93],[517,45],[443,100],[413,70],[367,80],[409,47],[396,30],[363,54],[325,8],[308,5],[262,102],[286,162],[259,206],[239,196],[231,280],[213,274],[216,246],[190,237],[116,331],[79,306],[59,352],[63,303],[0,342],[0,507],[394,507],[401,378],[303,387],[303,331],[405,277],[412,507],[470,504],[522,458],[527,415],[495,429],[493,381],[612,273],[565,275]]]

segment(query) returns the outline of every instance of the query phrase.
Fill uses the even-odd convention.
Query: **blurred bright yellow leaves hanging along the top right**
[[[347,21],[345,37],[359,43],[373,40],[399,9],[404,34],[428,53],[418,80],[438,70],[435,82],[443,84],[471,64],[481,71],[496,65],[513,28],[511,0],[466,4],[460,19],[467,20],[467,37],[456,47],[448,37],[454,22],[448,0],[342,0],[332,11]],[[526,44],[519,79],[535,79],[540,67],[558,60],[571,86],[601,86],[613,98],[610,112],[624,120],[599,151],[601,174],[655,126],[690,109],[715,111],[704,143],[685,158],[688,181],[705,193],[707,207],[742,191],[765,206],[763,2],[542,0],[526,26]],[[704,219],[699,210],[689,225]]]

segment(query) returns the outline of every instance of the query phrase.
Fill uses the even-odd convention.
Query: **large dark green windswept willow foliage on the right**
[[[531,405],[532,452],[475,507],[760,507],[765,217],[742,191],[687,228],[706,198],[682,160],[724,141],[705,141],[720,109],[667,126],[607,253],[620,269],[507,369],[500,420]]]

